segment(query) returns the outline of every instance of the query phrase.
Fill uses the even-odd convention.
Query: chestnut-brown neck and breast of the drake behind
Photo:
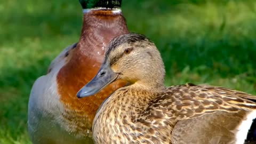
[[[62,116],[71,125],[76,125],[77,131],[91,130],[93,118],[102,101],[125,84],[117,81],[93,97],[76,97],[79,89],[97,74],[110,40],[126,33],[129,30],[122,13],[103,10],[84,14],[79,43],[67,54],[66,65],[57,75],[60,101],[65,106]]]

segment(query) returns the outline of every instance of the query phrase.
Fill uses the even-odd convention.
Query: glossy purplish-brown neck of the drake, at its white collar
[[[110,40],[127,33],[129,33],[129,30],[121,9],[84,10],[83,27],[78,43],[79,53],[92,55],[102,61]],[[102,57],[99,57],[99,55],[102,55]]]

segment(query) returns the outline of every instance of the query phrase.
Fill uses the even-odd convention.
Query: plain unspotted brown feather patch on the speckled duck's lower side
[[[236,143],[238,126],[245,117],[245,111],[228,113],[216,111],[213,114],[186,119],[175,124],[172,131],[173,143]],[[243,138],[242,141],[245,139]]]

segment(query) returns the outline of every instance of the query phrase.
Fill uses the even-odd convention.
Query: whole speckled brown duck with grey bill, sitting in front
[[[165,68],[146,36],[109,43],[98,73],[78,91],[87,98],[123,79],[94,117],[95,143],[244,143],[256,118],[254,95],[191,83],[165,87]]]

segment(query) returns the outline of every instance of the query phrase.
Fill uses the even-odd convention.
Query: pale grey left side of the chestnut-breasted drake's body
[[[83,134],[72,135],[72,127],[63,117],[65,105],[60,101],[56,78],[59,70],[66,63],[65,55],[76,44],[68,46],[55,58],[48,74],[39,77],[34,83],[28,105],[28,131],[33,143],[84,143],[90,141]],[[74,125],[75,126],[75,125]],[[75,129],[76,130],[76,129]],[[79,134],[79,135],[78,135]],[[89,135],[89,131],[84,133]]]

